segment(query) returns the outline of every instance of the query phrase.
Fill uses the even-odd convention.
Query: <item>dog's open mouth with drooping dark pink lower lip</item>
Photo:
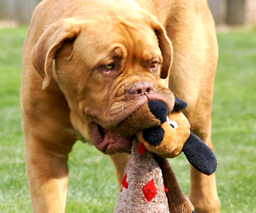
[[[96,123],[92,123],[92,140],[95,147],[104,154],[116,152],[131,152],[133,139],[123,138],[113,130],[106,130]]]

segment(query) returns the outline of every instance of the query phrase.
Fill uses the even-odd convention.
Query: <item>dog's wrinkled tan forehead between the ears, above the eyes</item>
[[[146,23],[110,18],[101,24],[84,25],[77,39],[77,47],[86,54],[100,57],[116,47],[122,54],[139,58],[161,57],[158,39]]]

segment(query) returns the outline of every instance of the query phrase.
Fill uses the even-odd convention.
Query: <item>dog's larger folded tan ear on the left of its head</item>
[[[31,60],[43,80],[42,89],[46,89],[52,79],[52,63],[57,51],[67,45],[64,56],[71,59],[73,46],[70,44],[73,44],[79,33],[77,22],[72,18],[65,18],[51,24],[39,38],[32,50]]]

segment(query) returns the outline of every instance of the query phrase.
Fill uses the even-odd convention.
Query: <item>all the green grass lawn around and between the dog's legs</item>
[[[31,212],[24,162],[19,88],[27,27],[0,29],[0,212]],[[256,32],[218,34],[212,141],[222,213],[256,212]],[[170,160],[188,194],[189,165]],[[114,167],[94,147],[77,142],[69,156],[66,212],[113,212]]]

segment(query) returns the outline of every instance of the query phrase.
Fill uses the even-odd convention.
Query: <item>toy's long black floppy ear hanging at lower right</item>
[[[212,150],[193,133],[190,133],[181,151],[199,172],[211,175],[216,171],[217,160]]]

